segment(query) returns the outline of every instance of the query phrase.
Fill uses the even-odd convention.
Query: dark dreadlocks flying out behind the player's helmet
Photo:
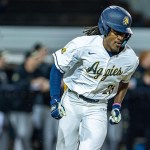
[[[83,33],[85,35],[101,35],[99,29],[98,29],[98,26],[92,26],[92,27],[85,27],[84,28],[85,30],[83,31]]]

